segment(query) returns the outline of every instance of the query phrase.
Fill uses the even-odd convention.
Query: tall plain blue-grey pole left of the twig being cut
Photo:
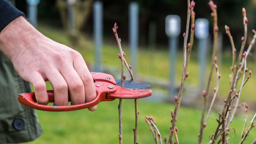
[[[93,3],[93,31],[95,44],[95,65],[94,71],[101,72],[101,49],[102,49],[102,31],[103,31],[103,4],[101,1]]]

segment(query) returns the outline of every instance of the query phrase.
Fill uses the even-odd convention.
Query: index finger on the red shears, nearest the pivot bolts
[[[83,81],[84,84],[84,91],[85,91],[85,101],[89,102],[96,98],[96,90],[94,86],[93,78],[86,66],[86,63],[84,62],[84,59],[82,56],[76,57],[74,59],[73,66],[80,76],[80,79]],[[95,111],[97,109],[97,105],[88,108],[90,111]]]

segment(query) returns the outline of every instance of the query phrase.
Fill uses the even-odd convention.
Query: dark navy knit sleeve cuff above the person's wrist
[[[0,0],[0,32],[21,15],[24,16],[24,13],[12,6],[7,0]]]

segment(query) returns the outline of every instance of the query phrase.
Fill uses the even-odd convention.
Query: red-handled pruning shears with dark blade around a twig
[[[101,101],[113,101],[116,98],[137,99],[148,97],[152,94],[151,90],[136,90],[140,88],[150,87],[149,84],[126,80],[124,84],[125,88],[123,88],[120,87],[121,80],[114,79],[109,74],[91,73],[91,76],[94,80],[97,97],[94,100],[84,104],[67,106],[41,105],[36,103],[36,97],[34,92],[21,93],[18,95],[18,100],[23,105],[27,105],[31,108],[42,111],[74,111],[98,105],[98,103],[100,103]],[[49,102],[54,102],[54,91],[47,91],[47,94],[49,97]]]

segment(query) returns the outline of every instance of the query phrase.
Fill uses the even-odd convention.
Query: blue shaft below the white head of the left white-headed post
[[[169,90],[171,98],[174,98],[175,92],[175,72],[176,72],[176,53],[178,48],[178,37],[169,38]]]

